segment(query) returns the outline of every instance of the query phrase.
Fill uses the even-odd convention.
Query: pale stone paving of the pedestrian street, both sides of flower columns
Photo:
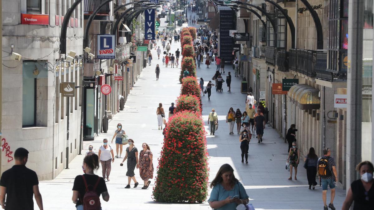
[[[180,43],[172,43],[172,52],[180,48]],[[153,58],[157,58],[157,53],[152,50]],[[123,128],[129,137],[133,138],[138,149],[142,142],[147,142],[153,152],[153,164],[157,165],[157,158],[160,155],[163,136],[162,131],[157,130],[156,108],[161,102],[168,110],[171,102],[179,96],[180,84],[178,81],[180,68],[161,68],[160,79],[156,81],[154,68],[156,64],[162,66],[162,59],[153,59],[152,65],[143,69],[139,80],[126,101],[124,111],[116,114],[109,123],[108,133],[101,134],[93,142],[84,142],[83,148],[87,149],[92,144],[95,152],[98,152],[103,138],[111,139],[117,123],[122,123]],[[231,65],[226,65],[226,79],[228,71],[232,71]],[[197,69],[198,77],[205,80],[205,84],[212,78],[215,72],[215,65],[206,68],[205,61],[201,68]],[[303,162],[300,163],[298,180],[289,181],[289,173],[284,165],[287,158],[287,144],[279,137],[271,127],[265,129],[264,141],[257,143],[257,139],[251,140],[249,145],[249,163],[240,162],[239,135],[229,135],[229,128],[225,122],[225,116],[230,107],[244,109],[245,94],[240,93],[239,77],[232,77],[232,91],[227,92],[226,83],[223,84],[224,91],[219,93],[212,89],[211,100],[207,95],[202,97],[203,118],[206,123],[207,116],[211,108],[215,108],[218,113],[220,127],[215,133],[215,137],[208,135],[209,168],[211,181],[216,175],[219,167],[224,163],[229,163],[235,170],[235,176],[245,186],[250,202],[256,209],[322,209],[322,191],[319,186],[309,190],[307,186],[306,171]],[[167,114],[166,114],[167,115]],[[208,125],[205,126],[209,133]],[[234,132],[236,128],[234,129]],[[236,133],[236,132],[235,132]],[[111,144],[115,147],[114,144]],[[125,150],[125,148],[124,148]],[[86,150],[85,150],[86,151]],[[82,151],[85,152],[85,151]],[[122,155],[124,156],[124,154]],[[54,180],[40,182],[45,209],[74,209],[71,202],[74,177],[82,174],[82,160],[84,155],[78,155],[69,164],[70,169],[63,170]],[[160,204],[155,203],[152,198],[152,190],[142,190],[142,180],[139,172],[135,170],[135,177],[140,183],[140,187],[134,189],[124,189],[127,184],[126,164],[119,166],[122,160],[116,159],[112,164],[110,182],[107,183],[110,194],[109,202],[102,201],[103,209],[121,210],[210,210],[209,204]],[[155,167],[156,168],[156,167]],[[96,173],[101,176],[101,169]],[[156,171],[154,173],[156,175]],[[131,184],[133,186],[133,183]],[[150,185],[154,186],[154,180]],[[329,197],[329,192],[328,192]],[[335,196],[335,207],[341,209],[345,197],[345,191],[337,190]],[[36,204],[35,204],[36,207]],[[37,209],[37,207],[36,207]]]

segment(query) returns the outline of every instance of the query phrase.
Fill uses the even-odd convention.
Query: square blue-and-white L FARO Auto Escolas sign
[[[114,59],[116,58],[116,52],[114,47],[116,46],[116,36],[108,34],[97,35],[97,58],[98,59]]]

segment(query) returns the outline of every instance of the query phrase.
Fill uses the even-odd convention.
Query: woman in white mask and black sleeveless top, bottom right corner
[[[356,167],[361,179],[352,182],[341,210],[349,210],[355,201],[353,210],[371,210],[374,207],[374,166],[370,161],[362,161]]]

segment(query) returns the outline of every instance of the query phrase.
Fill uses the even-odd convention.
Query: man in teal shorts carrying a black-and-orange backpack
[[[321,177],[321,175],[319,175],[321,177],[321,183],[322,183],[322,200],[324,201],[324,210],[328,210],[328,208],[335,210],[333,202],[335,198],[335,183],[338,180],[338,173],[336,172],[336,168],[335,168],[335,160],[334,158],[330,157],[331,156],[330,149],[324,148],[323,153],[324,153],[324,156],[320,157],[317,161],[318,167],[321,166],[322,160],[327,160],[328,161],[327,168],[330,172],[328,176]],[[317,170],[319,169],[317,168]],[[329,185],[331,189],[331,201],[328,204],[328,207],[326,204],[327,185]]]

